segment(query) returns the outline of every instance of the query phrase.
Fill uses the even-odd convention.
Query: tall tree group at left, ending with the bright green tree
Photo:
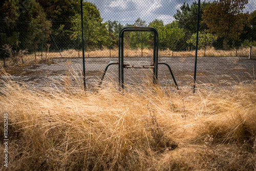
[[[53,48],[69,49],[79,40],[79,0],[6,0],[0,5],[1,47],[8,44],[34,51],[39,42],[54,37]],[[106,23],[94,4],[83,2],[83,18],[86,46],[106,46]]]

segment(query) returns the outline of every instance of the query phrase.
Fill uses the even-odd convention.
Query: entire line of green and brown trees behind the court
[[[245,13],[247,3],[248,0],[202,2],[199,48],[230,49],[255,43],[256,11]],[[75,42],[81,42],[79,0],[6,0],[0,2],[0,7],[1,47],[8,44],[16,50],[32,52],[39,50],[39,42],[52,37],[58,40],[53,48],[74,48]],[[133,25],[126,26],[156,28],[161,50],[188,50],[195,47],[197,12],[197,2],[190,6],[184,3],[172,23],[155,19],[147,24],[138,18]],[[98,8],[90,2],[83,2],[83,25],[85,47],[90,50],[117,47],[118,33],[124,27],[117,21],[103,22]],[[132,49],[151,48],[153,34],[129,32],[125,34],[125,43]]]

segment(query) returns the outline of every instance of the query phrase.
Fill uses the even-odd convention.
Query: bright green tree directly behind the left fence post
[[[78,32],[80,32],[81,29],[80,18],[81,16],[79,13],[76,13],[75,16],[72,17],[72,31],[69,32],[71,39],[78,38]],[[103,19],[101,18],[100,12],[95,4],[89,2],[83,2],[83,36],[84,46],[86,46],[86,48],[92,49],[108,46],[109,39],[106,22],[103,23]]]

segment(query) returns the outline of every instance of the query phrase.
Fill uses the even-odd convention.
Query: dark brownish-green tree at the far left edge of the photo
[[[0,46],[8,44],[15,50],[33,51],[42,38],[44,28],[41,26],[45,25],[47,29],[51,27],[44,10],[35,0],[5,1],[0,11]]]

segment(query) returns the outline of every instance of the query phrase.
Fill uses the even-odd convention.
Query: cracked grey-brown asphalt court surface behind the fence
[[[118,62],[118,57],[86,58],[87,85],[97,84],[102,77],[105,67],[111,62]],[[151,65],[152,57],[124,57],[125,64]],[[194,57],[161,57],[158,62],[168,63],[179,86],[193,84],[195,58]],[[198,57],[198,83],[220,84],[221,80],[250,81],[255,79],[254,66],[256,59],[238,57]],[[29,85],[47,86],[55,80],[63,81],[66,76],[76,73],[74,77],[82,78],[82,58],[52,58],[33,61],[24,65],[6,68],[15,81],[24,81]],[[124,82],[140,83],[146,76],[152,77],[152,69],[124,69]],[[109,67],[105,80],[118,80],[118,65]],[[174,81],[168,68],[158,66],[158,79],[161,85],[172,85]],[[73,78],[74,80],[74,78]],[[75,87],[75,85],[74,85]]]

